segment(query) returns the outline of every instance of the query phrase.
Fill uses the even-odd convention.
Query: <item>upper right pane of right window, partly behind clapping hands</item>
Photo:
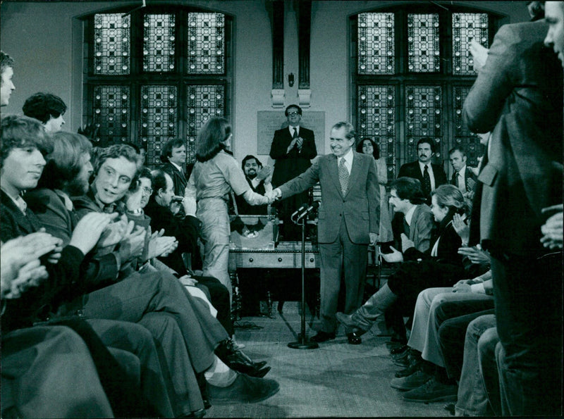
[[[475,75],[472,39],[488,47],[487,13],[453,13],[453,74]]]

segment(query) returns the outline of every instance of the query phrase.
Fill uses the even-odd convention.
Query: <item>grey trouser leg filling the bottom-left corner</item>
[[[2,337],[2,417],[113,418],[85,342],[68,327]]]

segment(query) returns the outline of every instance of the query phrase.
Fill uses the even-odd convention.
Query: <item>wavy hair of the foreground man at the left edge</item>
[[[0,123],[0,168],[13,149],[33,147],[45,156],[52,149],[45,128],[37,119],[27,116],[7,115]]]

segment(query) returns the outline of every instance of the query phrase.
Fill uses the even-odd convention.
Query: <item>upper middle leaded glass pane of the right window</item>
[[[438,13],[407,15],[407,67],[414,73],[441,70]]]

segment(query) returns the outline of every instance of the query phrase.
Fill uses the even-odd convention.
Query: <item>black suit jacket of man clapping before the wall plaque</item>
[[[302,150],[298,151],[294,148],[290,150],[290,153],[286,153],[290,142],[292,142],[290,130],[286,127],[274,132],[274,139],[270,147],[270,156],[276,160],[272,174],[272,185],[274,187],[278,187],[304,173],[312,165],[312,158],[317,156],[313,131],[300,126],[300,137],[304,139]]]

